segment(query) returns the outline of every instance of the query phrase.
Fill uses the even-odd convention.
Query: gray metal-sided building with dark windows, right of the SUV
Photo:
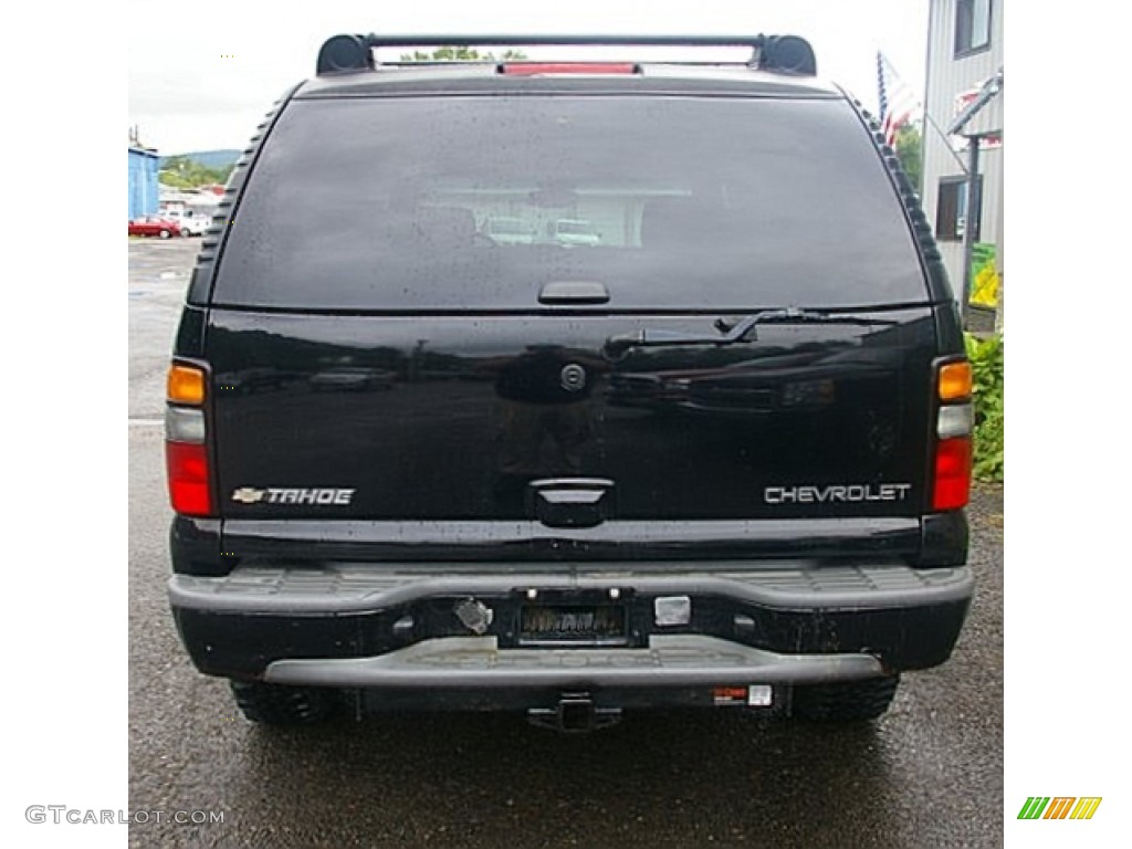
[[[1002,324],[1002,70],[1003,0],[932,0],[921,195],[976,331]]]

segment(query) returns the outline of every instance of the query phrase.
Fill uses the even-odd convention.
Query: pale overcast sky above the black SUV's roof
[[[789,33],[814,45],[822,77],[840,83],[875,112],[877,51],[914,91],[924,88],[927,7],[928,0],[343,0],[297,14],[292,9],[301,7],[250,0],[195,0],[188,6],[131,0],[129,126],[139,128],[144,145],[164,155],[242,148],[275,98],[314,75],[321,43],[355,32]]]

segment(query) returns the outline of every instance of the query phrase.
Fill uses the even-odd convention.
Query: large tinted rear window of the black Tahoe
[[[288,105],[213,301],[522,310],[555,281],[601,282],[609,309],[927,297],[844,102],[441,96]]]

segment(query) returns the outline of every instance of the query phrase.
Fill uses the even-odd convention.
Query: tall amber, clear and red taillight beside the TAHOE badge
[[[212,473],[204,402],[207,374],[198,366],[174,363],[169,369],[165,409],[165,471],[173,509],[190,516],[211,516]]]

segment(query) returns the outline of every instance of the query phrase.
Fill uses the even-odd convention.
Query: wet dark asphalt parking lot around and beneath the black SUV
[[[131,825],[136,847],[1000,846],[1002,491],[977,488],[975,604],[951,661],[873,724],[721,709],[556,736],[509,715],[396,714],[272,730],[195,671],[165,600],[163,380],[199,240],[129,243]]]

